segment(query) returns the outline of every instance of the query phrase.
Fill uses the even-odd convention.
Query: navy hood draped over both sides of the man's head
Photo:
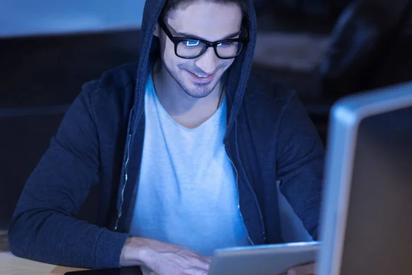
[[[146,0],[144,7],[143,21],[141,24],[141,47],[139,56],[138,72],[136,77],[135,87],[135,102],[133,109],[140,110],[141,113],[135,113],[135,117],[142,115],[144,110],[144,93],[146,89],[146,80],[150,73],[151,59],[159,49],[156,39],[153,39],[155,25],[158,21],[165,0]],[[227,72],[227,102],[228,102],[228,120],[227,129],[230,129],[236,121],[242,98],[247,86],[247,81],[251,72],[253,54],[256,44],[257,23],[255,9],[253,8],[252,0],[249,0],[249,13],[244,19],[249,28],[250,41],[246,50],[242,51],[240,56],[237,56],[233,64]],[[144,69],[141,69],[144,68]],[[229,131],[227,131],[228,133]],[[226,137],[225,137],[226,138]]]

